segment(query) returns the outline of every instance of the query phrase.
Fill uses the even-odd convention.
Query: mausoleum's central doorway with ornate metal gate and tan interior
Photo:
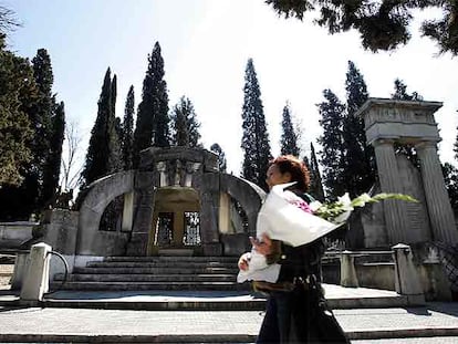
[[[148,254],[191,256],[200,244],[198,192],[186,187],[159,188],[155,196]]]

